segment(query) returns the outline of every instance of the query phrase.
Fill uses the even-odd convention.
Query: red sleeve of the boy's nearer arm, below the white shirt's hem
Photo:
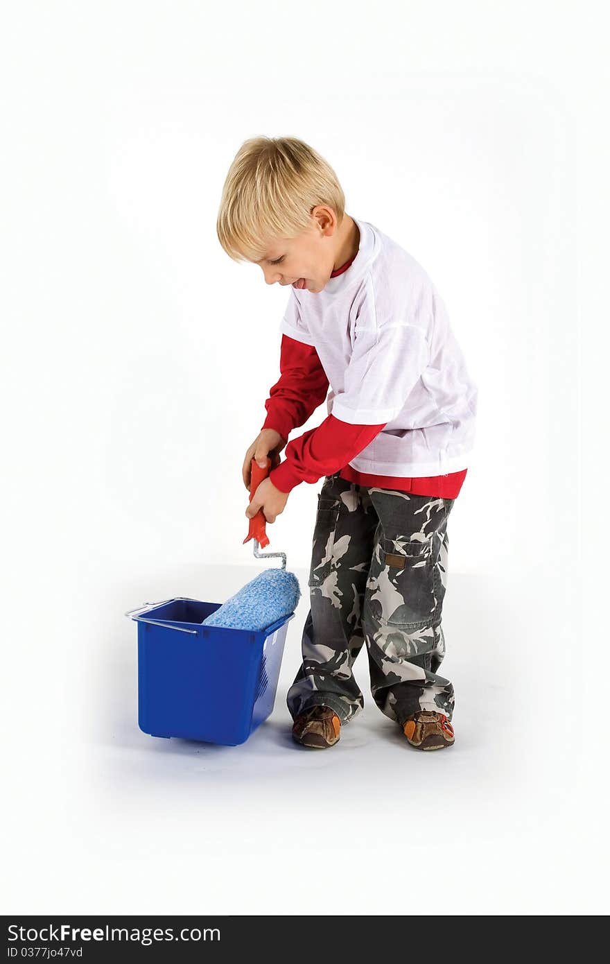
[[[269,478],[276,489],[286,493],[300,482],[317,482],[322,475],[343,469],[386,424],[353,425],[329,415],[318,428],[288,442],[285,460],[272,469]]]

